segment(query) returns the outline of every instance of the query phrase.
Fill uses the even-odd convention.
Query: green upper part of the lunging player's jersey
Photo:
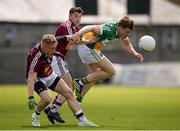
[[[101,34],[100,41],[104,40],[113,40],[118,38],[116,32],[117,23],[116,22],[107,22],[100,25]]]

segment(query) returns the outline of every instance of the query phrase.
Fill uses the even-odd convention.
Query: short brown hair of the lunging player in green
[[[122,28],[128,28],[130,30],[133,30],[134,28],[134,21],[132,19],[129,19],[128,16],[125,16],[118,22],[118,27],[121,26]]]

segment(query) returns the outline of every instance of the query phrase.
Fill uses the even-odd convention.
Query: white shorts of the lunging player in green
[[[82,63],[98,63],[105,57],[100,50],[89,49],[86,45],[78,45],[77,49]]]

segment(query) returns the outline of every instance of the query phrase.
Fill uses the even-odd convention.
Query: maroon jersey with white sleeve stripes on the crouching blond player
[[[28,53],[26,78],[29,71],[37,72],[37,77],[40,78],[49,76],[52,73],[51,62],[52,57],[44,55],[40,48],[40,42],[37,43]]]

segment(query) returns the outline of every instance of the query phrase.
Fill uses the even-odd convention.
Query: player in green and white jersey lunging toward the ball
[[[72,36],[72,40],[77,41],[85,33],[91,32],[93,34],[92,38],[86,42],[86,45],[82,45],[86,46],[87,49],[81,50],[80,48],[78,50],[83,63],[86,63],[92,69],[92,72],[86,77],[73,80],[73,87],[79,102],[82,101],[82,97],[89,90],[86,85],[92,85],[98,80],[104,80],[115,74],[112,63],[99,50],[105,45],[103,41],[119,39],[120,44],[128,53],[135,56],[140,63],[143,62],[143,56],[135,51],[128,38],[133,28],[134,21],[125,16],[117,23],[108,22],[101,25],[87,25]],[[84,37],[82,37],[82,41],[85,41]]]

